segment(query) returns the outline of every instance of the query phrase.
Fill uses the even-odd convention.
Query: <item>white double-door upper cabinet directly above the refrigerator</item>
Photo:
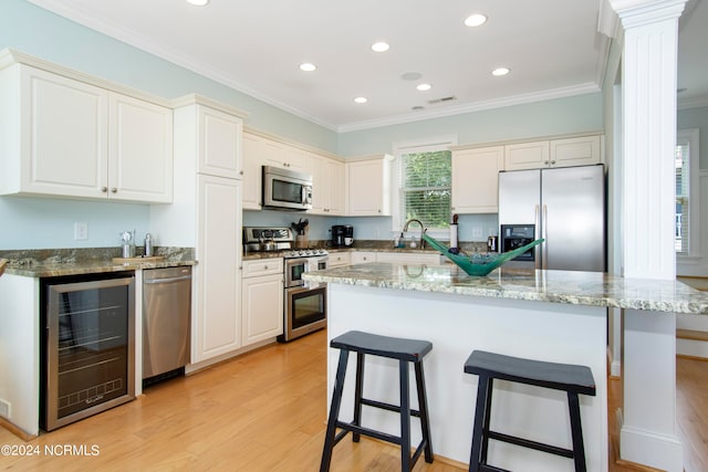
[[[506,170],[585,166],[600,162],[602,162],[600,135],[504,146]]]

